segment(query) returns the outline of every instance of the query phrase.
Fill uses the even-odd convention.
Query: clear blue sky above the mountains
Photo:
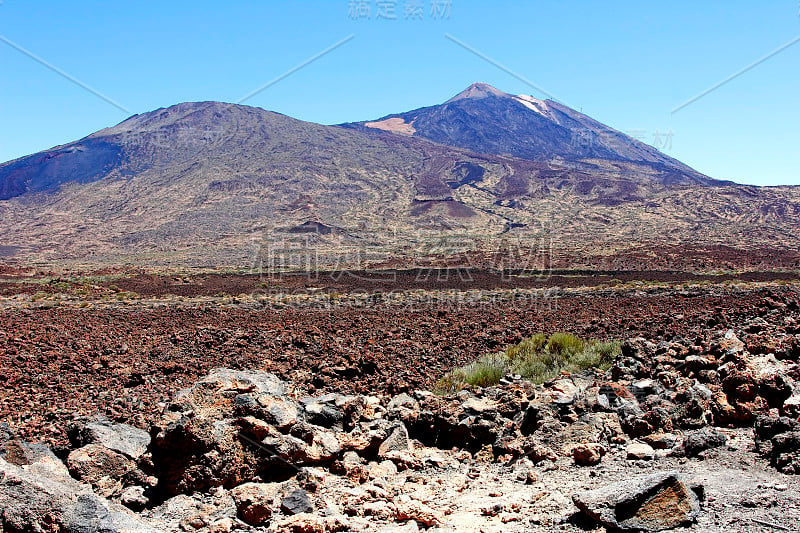
[[[0,161],[237,102],[340,43],[246,103],[333,124],[534,85],[712,177],[800,184],[800,41],[673,112],[798,37],[798,0],[2,0]]]

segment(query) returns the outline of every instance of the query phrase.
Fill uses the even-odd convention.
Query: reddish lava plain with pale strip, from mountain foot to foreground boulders
[[[796,282],[472,273],[470,286],[455,272],[424,274],[416,287],[416,277],[376,287],[342,275],[256,278],[252,290],[236,276],[219,277],[227,286],[211,277],[208,287],[175,276],[17,279],[0,300],[0,413],[23,435],[63,442],[55,420],[100,411],[152,422],[175,387],[216,366],[270,371],[311,391],[396,393],[432,387],[454,366],[537,331],[622,339],[733,327],[769,305],[757,287]]]

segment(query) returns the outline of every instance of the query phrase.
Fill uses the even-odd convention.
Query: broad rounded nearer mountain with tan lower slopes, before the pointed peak
[[[724,185],[688,171],[668,179],[678,172],[647,161],[487,155],[186,103],[0,165],[0,255],[363,268],[466,251],[490,258],[509,246],[564,266],[665,244],[798,248],[800,189]]]

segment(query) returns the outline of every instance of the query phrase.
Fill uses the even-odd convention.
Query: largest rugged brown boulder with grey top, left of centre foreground
[[[307,441],[281,432],[300,425],[290,425],[296,406],[287,393],[288,385],[272,374],[229,369],[215,369],[176,393],[151,446],[161,488],[175,495],[232,488],[256,476],[282,481],[297,471],[294,462],[335,457],[339,444],[323,428],[306,424],[299,433]],[[269,421],[240,416],[246,412]]]

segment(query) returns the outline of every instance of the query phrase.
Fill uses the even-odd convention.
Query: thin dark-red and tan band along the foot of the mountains
[[[174,276],[163,274],[130,273],[111,281],[85,283],[77,278],[52,278],[46,283],[21,283],[41,276],[13,277],[0,281],[0,296],[15,294],[57,294],[80,289],[85,297],[102,297],[119,291],[134,292],[143,297],[219,296],[240,294],[268,295],[275,293],[299,294],[308,292],[362,293],[393,292],[403,290],[471,290],[471,289],[537,289],[614,286],[633,281],[661,283],[696,283],[723,281],[777,281],[796,280],[793,272],[743,272],[719,275],[695,274],[663,270],[643,271],[542,271],[533,274],[500,273],[485,270],[414,269],[320,272],[308,274],[195,274]]]

